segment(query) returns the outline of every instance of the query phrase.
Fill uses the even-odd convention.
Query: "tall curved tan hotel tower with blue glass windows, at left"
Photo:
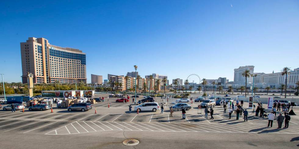
[[[45,38],[29,37],[20,44],[23,83],[27,72],[34,83],[86,83],[86,54],[81,50],[55,46]]]

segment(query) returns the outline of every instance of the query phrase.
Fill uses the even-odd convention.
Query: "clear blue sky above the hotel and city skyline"
[[[299,1],[1,1],[0,73],[21,81],[20,42],[87,54],[90,74],[227,77],[254,65],[272,73],[299,67]],[[191,78],[196,80],[195,77]],[[198,81],[197,81],[198,82]]]

